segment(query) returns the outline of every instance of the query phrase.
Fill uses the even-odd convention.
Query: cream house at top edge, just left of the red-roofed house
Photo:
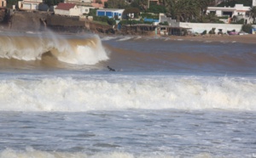
[[[21,10],[38,10],[39,3],[43,3],[43,0],[23,0],[19,1],[18,7]]]

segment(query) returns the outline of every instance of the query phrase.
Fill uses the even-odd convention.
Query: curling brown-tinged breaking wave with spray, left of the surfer
[[[0,58],[36,60],[45,53],[74,65],[95,65],[108,59],[100,38],[96,35],[75,37],[43,33],[0,34]]]

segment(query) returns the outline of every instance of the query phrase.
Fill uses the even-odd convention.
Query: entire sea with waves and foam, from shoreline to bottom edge
[[[1,31],[0,157],[256,157],[255,61],[236,41]]]

